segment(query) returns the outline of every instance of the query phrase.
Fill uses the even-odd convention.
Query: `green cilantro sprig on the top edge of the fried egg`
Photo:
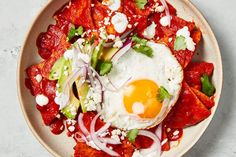
[[[135,43],[133,45],[133,49],[138,52],[142,53],[148,57],[153,57],[153,49],[149,46],[147,46],[147,40],[146,39],[141,39],[134,35],[132,38],[132,41]]]

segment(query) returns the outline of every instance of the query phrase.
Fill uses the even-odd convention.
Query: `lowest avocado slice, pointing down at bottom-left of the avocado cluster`
[[[61,110],[61,112],[69,119],[75,119],[77,112],[80,107],[80,102],[79,100],[75,97],[72,89],[70,92],[70,101],[68,105]]]

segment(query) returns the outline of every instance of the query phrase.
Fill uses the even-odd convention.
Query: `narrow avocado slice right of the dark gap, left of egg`
[[[85,113],[87,112],[87,109],[85,107],[85,100],[88,95],[89,84],[85,82],[81,87],[78,87],[78,81],[76,81],[76,87],[77,87],[77,91],[78,91],[78,95],[80,99],[82,112]]]

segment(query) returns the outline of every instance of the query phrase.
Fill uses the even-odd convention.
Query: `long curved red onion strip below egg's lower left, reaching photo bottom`
[[[120,156],[117,152],[111,150],[110,148],[106,147],[105,143],[102,143],[98,137],[96,136],[95,133],[95,125],[96,125],[96,121],[99,118],[99,116],[101,115],[102,112],[98,113],[92,120],[91,125],[90,125],[90,132],[91,132],[91,138],[94,142],[94,144],[100,148],[102,151],[104,151],[105,153],[111,155],[111,156]]]

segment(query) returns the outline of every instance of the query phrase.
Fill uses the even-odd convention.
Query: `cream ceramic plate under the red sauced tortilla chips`
[[[26,77],[25,69],[40,61],[36,47],[36,39],[39,33],[45,32],[48,25],[54,23],[52,18],[53,14],[66,2],[68,2],[68,0],[51,0],[36,17],[19,56],[17,72],[18,95],[25,119],[39,142],[56,157],[70,157],[74,152],[73,146],[75,145],[75,142],[65,134],[59,136],[52,135],[49,127],[46,127],[43,124],[40,113],[34,105],[35,99],[28,89],[26,89],[24,80]],[[215,66],[213,82],[216,86],[216,105],[212,108],[211,116],[200,124],[185,129],[180,145],[162,155],[162,157],[180,157],[199,140],[212,120],[220,99],[223,74],[221,55],[217,41],[202,14],[188,0],[169,0],[169,2],[177,9],[180,17],[186,20],[194,20],[196,25],[200,27],[203,32],[203,41],[198,50],[200,55],[196,56],[195,59],[212,62]]]

